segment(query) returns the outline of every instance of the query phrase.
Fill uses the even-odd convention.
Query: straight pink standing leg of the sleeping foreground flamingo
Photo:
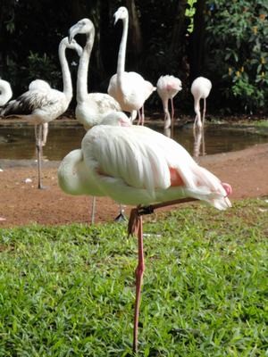
[[[142,286],[142,277],[145,270],[144,253],[143,253],[143,229],[142,229],[142,216],[138,217],[138,266],[136,268],[136,300],[134,312],[134,328],[133,328],[133,352],[138,351],[138,314],[140,304],[140,294]]]

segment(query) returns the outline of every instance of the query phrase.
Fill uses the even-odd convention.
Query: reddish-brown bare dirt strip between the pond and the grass
[[[230,183],[231,200],[268,196],[268,144],[203,156],[197,162]],[[40,190],[36,162],[0,160],[0,228],[33,222],[48,225],[90,222],[91,197],[64,194],[57,185],[58,165],[59,162],[44,163],[46,189]],[[97,198],[96,222],[112,221],[117,212],[118,205],[112,200]],[[126,213],[129,212],[130,208],[126,208]]]

